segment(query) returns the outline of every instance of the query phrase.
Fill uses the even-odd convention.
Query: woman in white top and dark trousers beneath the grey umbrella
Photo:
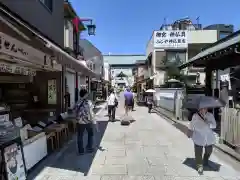
[[[203,174],[203,165],[208,166],[208,160],[213,151],[213,144],[216,141],[212,130],[215,128],[215,118],[205,108],[195,113],[190,122],[188,136],[194,142],[195,160],[199,174]],[[205,148],[205,152],[202,157],[203,148]]]

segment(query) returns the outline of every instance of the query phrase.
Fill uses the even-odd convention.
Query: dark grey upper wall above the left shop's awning
[[[46,37],[64,47],[64,0],[0,0],[0,2]]]

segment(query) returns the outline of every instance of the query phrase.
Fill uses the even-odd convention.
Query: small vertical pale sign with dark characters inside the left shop
[[[48,104],[57,104],[57,81],[48,80]]]

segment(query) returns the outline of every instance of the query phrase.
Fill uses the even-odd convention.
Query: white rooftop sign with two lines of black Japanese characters
[[[185,49],[187,47],[187,31],[154,31],[154,48]]]

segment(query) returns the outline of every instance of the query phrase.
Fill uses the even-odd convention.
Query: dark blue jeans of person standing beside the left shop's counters
[[[91,150],[93,149],[93,131],[94,131],[94,125],[92,123],[89,124],[77,124],[77,145],[78,145],[78,152],[83,153],[84,147],[83,147],[83,136],[85,130],[88,134],[88,141],[87,141],[87,149]]]

